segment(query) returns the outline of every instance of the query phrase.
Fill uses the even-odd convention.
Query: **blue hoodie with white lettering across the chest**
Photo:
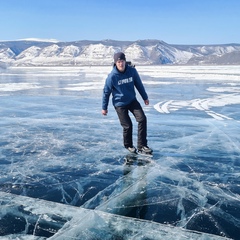
[[[130,104],[136,99],[134,86],[140,93],[142,99],[147,100],[148,95],[137,70],[134,67],[126,65],[125,71],[119,72],[117,67],[114,66],[104,85],[102,109],[108,109],[108,102],[111,94],[113,106],[122,107]]]

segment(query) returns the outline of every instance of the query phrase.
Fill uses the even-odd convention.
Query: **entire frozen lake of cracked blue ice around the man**
[[[101,115],[110,70],[0,69],[0,239],[240,239],[240,66],[137,66],[148,163]]]

